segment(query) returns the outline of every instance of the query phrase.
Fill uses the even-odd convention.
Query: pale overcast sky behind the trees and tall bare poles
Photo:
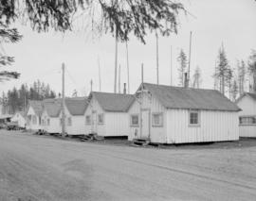
[[[202,70],[203,88],[213,88],[214,63],[221,43],[227,51],[229,63],[234,67],[237,59],[247,59],[256,49],[256,2],[254,0],[184,0],[192,13],[180,17],[178,34],[159,38],[159,82],[170,85],[171,45],[173,47],[173,84],[178,84],[176,58],[180,48],[189,55],[192,31],[192,73],[198,65]],[[15,57],[9,70],[21,73],[18,80],[0,85],[0,92],[22,83],[40,79],[61,92],[61,66],[66,65],[66,94],[77,90],[79,95],[99,91],[98,57],[101,63],[101,91],[114,90],[115,40],[110,35],[92,39],[88,33],[76,30],[65,34],[33,32],[29,25],[18,25],[22,42],[4,44],[4,50]],[[144,64],[144,81],[156,82],[155,34],[146,38],[147,44],[132,38],[128,42],[130,62],[130,92],[140,84],[140,65]],[[119,43],[121,83],[127,82],[125,44]],[[191,73],[191,74],[192,74]]]

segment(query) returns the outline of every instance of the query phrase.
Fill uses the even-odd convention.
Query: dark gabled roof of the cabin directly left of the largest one
[[[134,95],[112,92],[91,92],[89,99],[94,96],[101,109],[113,112],[126,112],[135,100]]]

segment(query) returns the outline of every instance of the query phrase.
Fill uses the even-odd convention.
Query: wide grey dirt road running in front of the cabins
[[[256,146],[165,150],[0,131],[1,201],[255,198]]]

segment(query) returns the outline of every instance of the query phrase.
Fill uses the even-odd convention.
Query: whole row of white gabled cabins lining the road
[[[65,131],[68,135],[96,133],[159,143],[236,141],[239,131],[256,137],[256,125],[250,124],[250,129],[243,124],[247,121],[244,107],[252,112],[249,117],[255,120],[256,116],[255,99],[253,110],[247,96],[237,102],[241,110],[214,90],[143,83],[133,95],[90,92],[88,97],[65,98]],[[60,99],[29,102],[28,129],[60,133],[61,119]]]

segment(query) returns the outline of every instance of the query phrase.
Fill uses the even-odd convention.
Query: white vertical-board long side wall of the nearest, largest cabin
[[[189,126],[188,109],[168,109],[168,143],[221,142],[239,139],[238,113],[200,111],[200,126]]]

